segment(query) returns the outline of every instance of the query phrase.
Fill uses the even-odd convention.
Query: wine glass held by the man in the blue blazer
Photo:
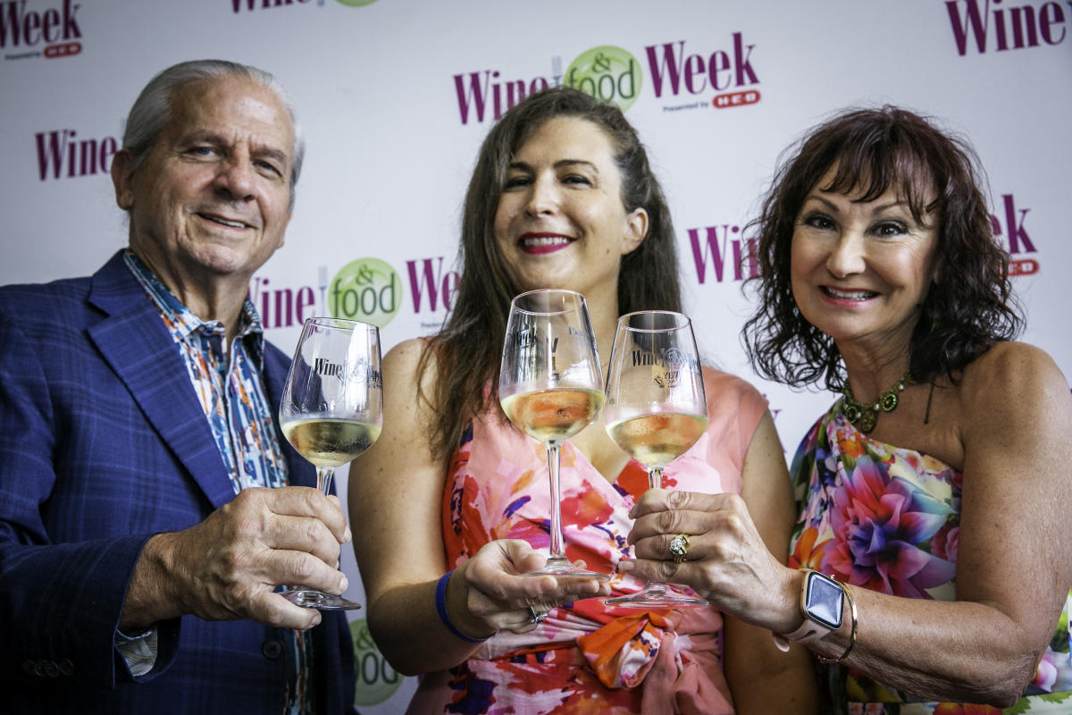
[[[331,317],[307,319],[286,376],[279,421],[287,441],[316,466],[316,487],[327,494],[336,467],[379,436],[383,382],[376,326]],[[288,589],[283,596],[304,608],[360,608],[304,586]]]

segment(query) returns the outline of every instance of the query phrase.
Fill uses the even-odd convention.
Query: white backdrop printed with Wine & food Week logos
[[[126,111],[155,72],[208,57],[276,74],[304,128],[286,245],[250,284],[285,352],[312,315],[375,323],[385,349],[434,332],[458,285],[479,143],[519,99],[569,85],[638,128],[704,359],[761,388],[790,453],[834,398],[760,381],[745,361],[743,226],[779,152],[847,106],[902,105],[972,141],[1025,339],[1072,374],[1068,0],[6,0],[0,283],[88,274],[125,244],[108,165]],[[363,617],[352,614],[358,705],[401,712],[415,681]]]

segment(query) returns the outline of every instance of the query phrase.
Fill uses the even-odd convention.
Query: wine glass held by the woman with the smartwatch
[[[649,488],[662,487],[662,467],[696,444],[708,427],[703,375],[688,317],[640,311],[617,319],[604,423],[611,440],[646,467]],[[708,605],[657,581],[606,602],[631,608]]]

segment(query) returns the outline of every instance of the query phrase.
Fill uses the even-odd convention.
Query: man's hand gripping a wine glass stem
[[[276,586],[341,594],[348,584],[337,568],[339,547],[349,538],[334,496],[308,487],[243,490],[196,526],[146,543],[120,628],[187,613],[310,628],[319,613],[291,604]]]

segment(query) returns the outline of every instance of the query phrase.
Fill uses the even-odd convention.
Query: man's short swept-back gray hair
[[[298,124],[298,115],[283,85],[271,73],[248,64],[226,60],[192,60],[173,64],[150,79],[126,116],[123,149],[131,154],[132,167],[136,169],[148,159],[160,133],[170,121],[174,92],[185,85],[222,77],[251,79],[263,85],[276,93],[291,115],[291,123],[294,125],[294,161],[291,165],[289,208],[293,209],[295,187],[298,184],[301,161],[306,155],[306,140]]]

